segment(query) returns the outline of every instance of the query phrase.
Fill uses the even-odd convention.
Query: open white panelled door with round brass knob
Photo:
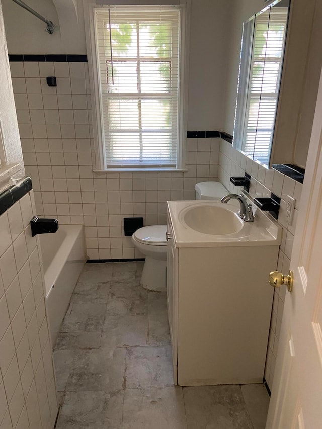
[[[322,428],[322,78],[266,429]],[[287,273],[283,273],[284,275]],[[282,286],[285,287],[285,286]]]

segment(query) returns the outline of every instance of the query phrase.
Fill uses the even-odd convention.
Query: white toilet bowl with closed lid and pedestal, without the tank
[[[134,246],[145,256],[141,286],[151,291],[166,291],[166,232],[166,225],[153,225],[139,228],[132,235]]]

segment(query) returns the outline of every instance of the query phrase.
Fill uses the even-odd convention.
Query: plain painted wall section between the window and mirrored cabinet
[[[192,0],[189,130],[222,130],[232,0]]]

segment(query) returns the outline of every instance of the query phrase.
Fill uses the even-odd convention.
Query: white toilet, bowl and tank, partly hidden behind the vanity
[[[196,200],[220,200],[229,191],[219,182],[200,182],[195,186]],[[166,225],[144,226],[132,235],[134,246],[145,255],[141,277],[143,288],[166,291],[167,240]]]

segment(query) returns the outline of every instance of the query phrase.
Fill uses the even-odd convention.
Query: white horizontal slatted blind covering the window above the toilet
[[[175,168],[180,10],[111,6],[95,21],[106,167]]]

